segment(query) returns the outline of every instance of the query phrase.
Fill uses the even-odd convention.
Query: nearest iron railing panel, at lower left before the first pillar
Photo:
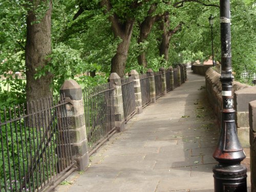
[[[41,191],[70,169],[66,102],[48,97],[1,112],[0,191]]]

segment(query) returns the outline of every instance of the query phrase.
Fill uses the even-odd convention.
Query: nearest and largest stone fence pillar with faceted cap
[[[60,94],[65,94],[68,100],[66,110],[72,156],[77,162],[78,169],[85,170],[89,165],[89,152],[82,89],[75,80],[66,80],[60,88]]]

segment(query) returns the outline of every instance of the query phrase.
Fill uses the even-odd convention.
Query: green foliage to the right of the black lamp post
[[[232,67],[236,80],[251,83],[256,74],[255,6],[246,1],[233,1],[231,7]],[[249,73],[243,78],[243,73]]]

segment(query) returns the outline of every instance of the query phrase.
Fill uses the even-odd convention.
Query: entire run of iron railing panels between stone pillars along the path
[[[181,68],[182,69],[182,68]],[[183,74],[183,76],[182,76]],[[154,74],[156,98],[163,94],[162,72]],[[185,74],[181,70],[182,81]],[[136,114],[134,80],[121,79],[125,122]],[[140,75],[143,108],[151,103],[150,77]],[[166,88],[170,88],[166,70]],[[179,86],[174,69],[174,87]],[[109,82],[83,90],[89,155],[115,130],[114,85]],[[0,192],[48,191],[75,169],[72,158],[66,102],[63,97],[48,97],[0,112]]]

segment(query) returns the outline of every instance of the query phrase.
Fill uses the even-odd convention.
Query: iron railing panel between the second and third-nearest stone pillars
[[[134,80],[132,77],[122,78],[122,98],[124,120],[127,122],[136,114]]]

